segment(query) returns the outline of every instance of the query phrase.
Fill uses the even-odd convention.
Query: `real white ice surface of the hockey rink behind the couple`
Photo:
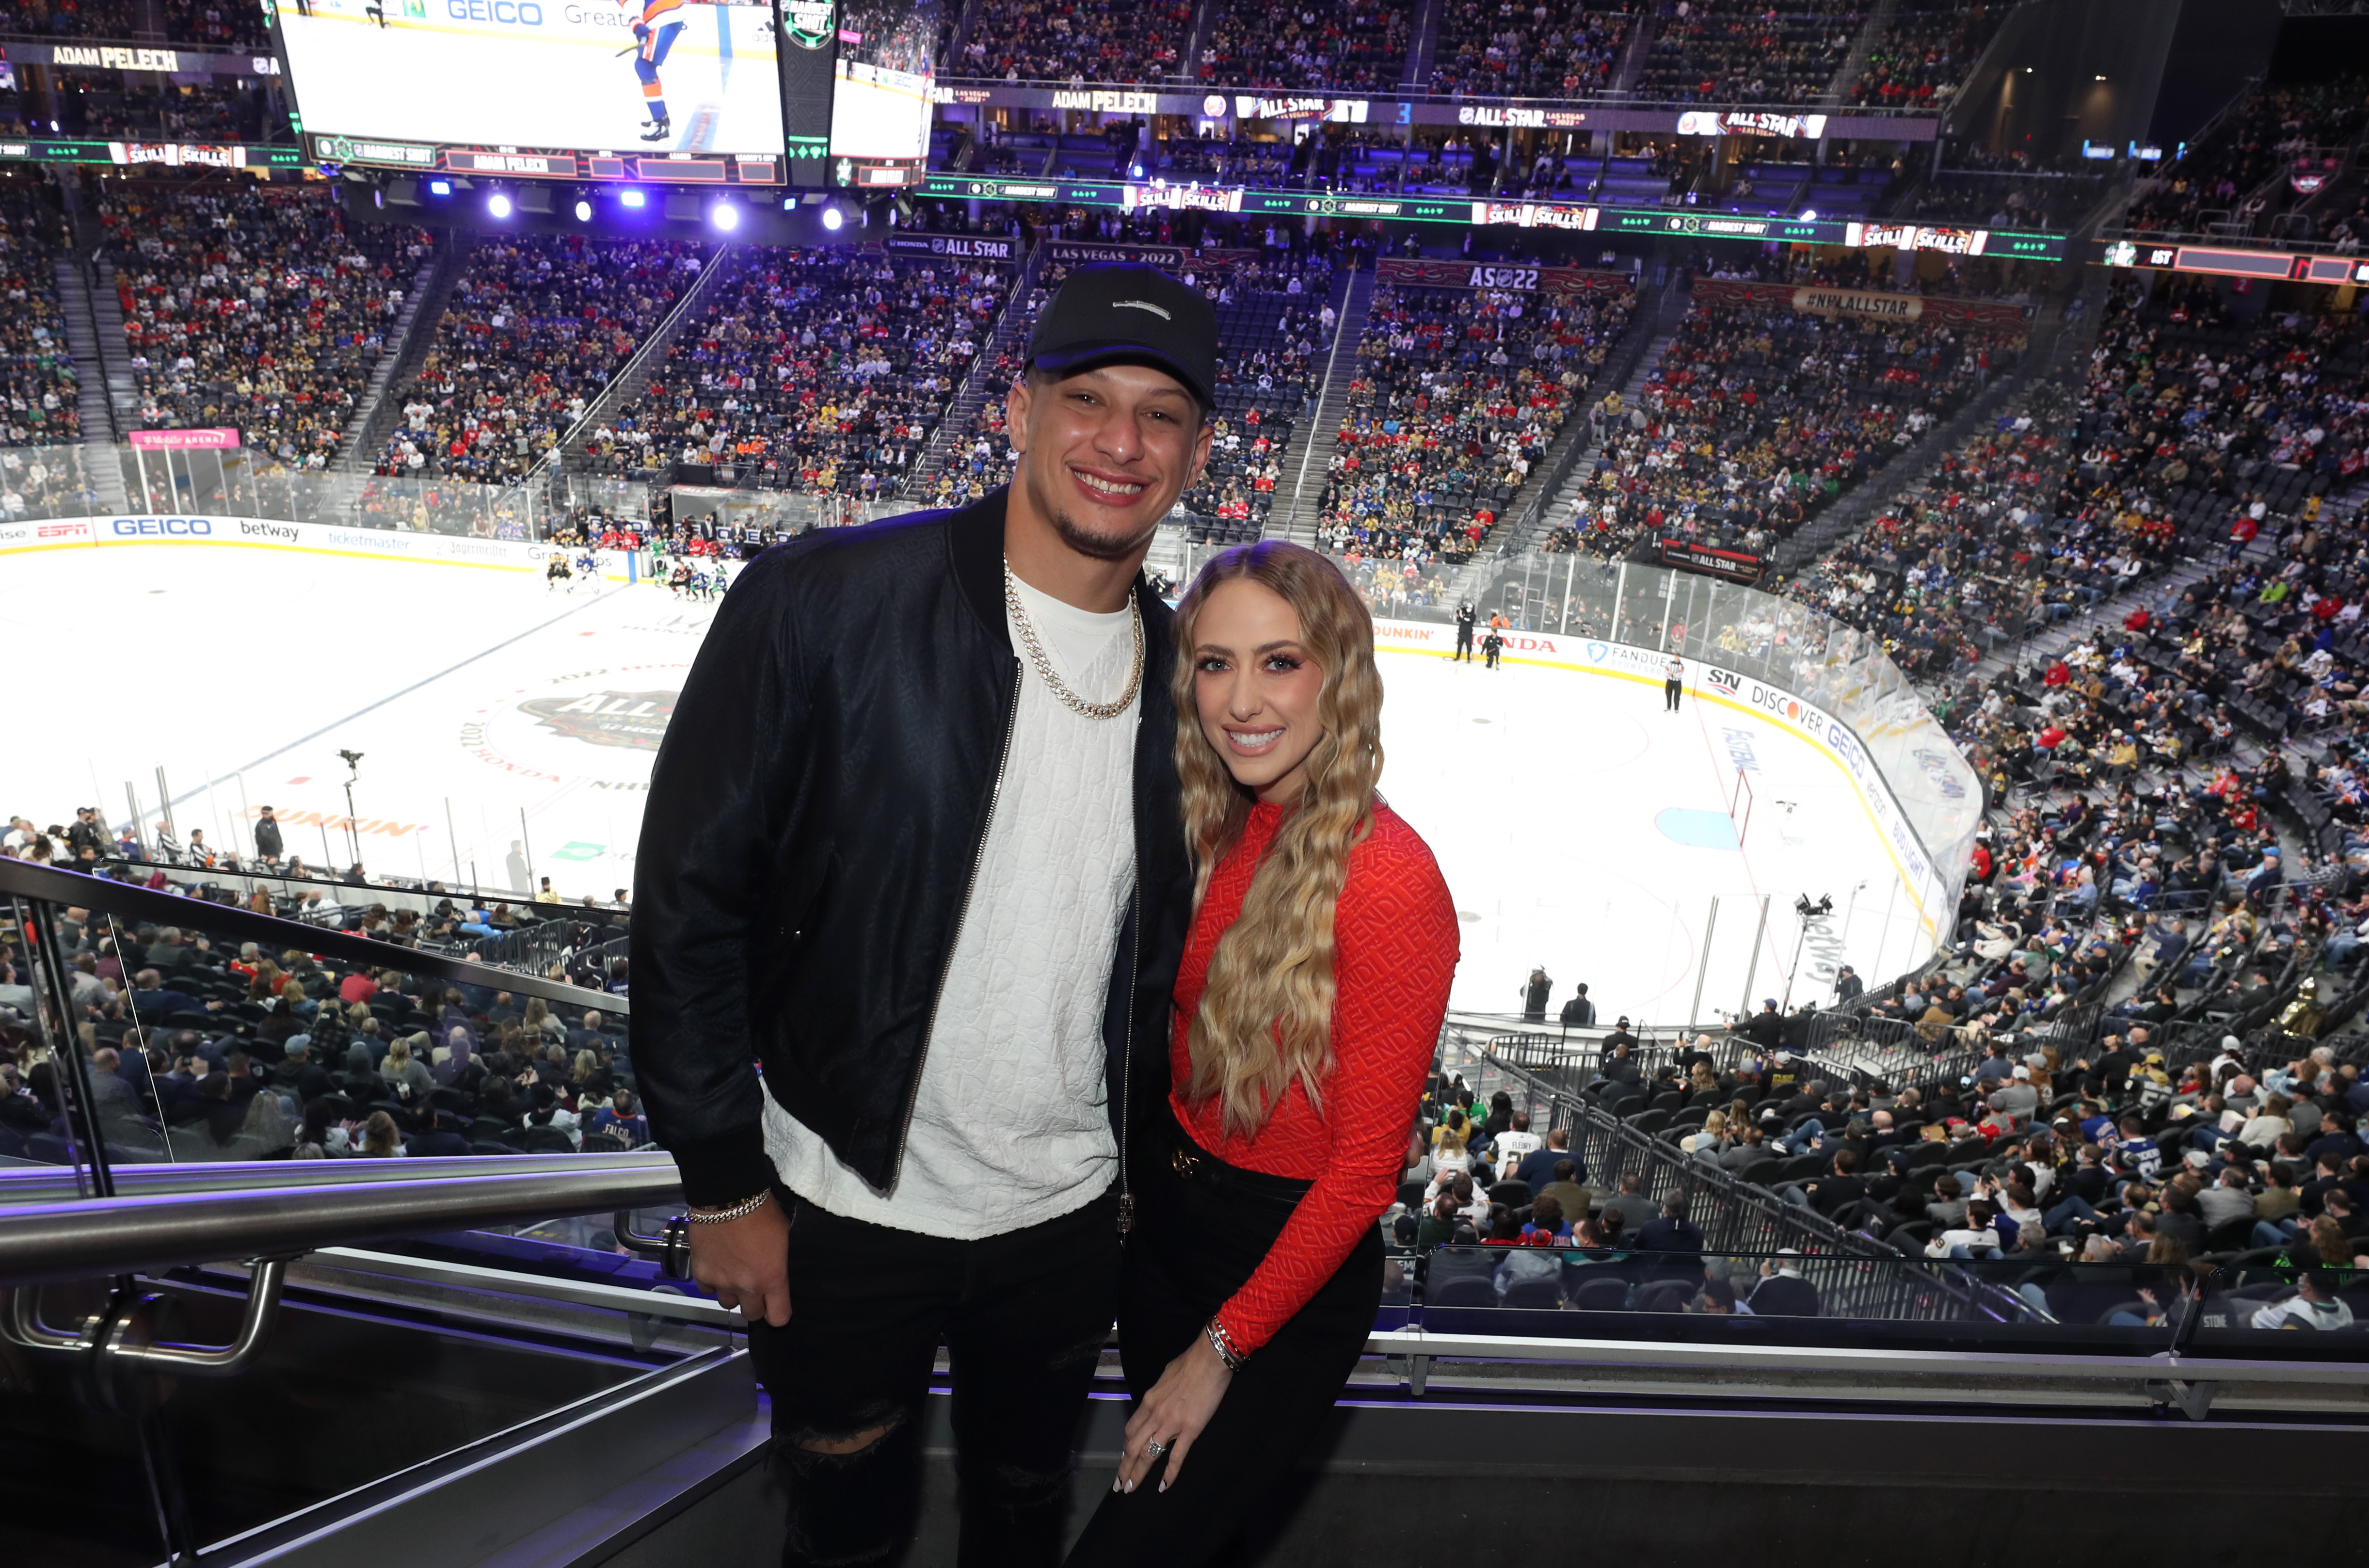
[[[346,765],[367,867],[505,886],[514,841],[569,895],[633,879],[642,791],[711,606],[663,587],[547,592],[538,576],[282,550],[116,545],[0,559],[0,628],[28,675],[0,812],[95,801],[346,862]],[[123,635],[137,628],[137,635]],[[26,658],[31,654],[31,658]],[[1455,1007],[1516,1011],[1533,964],[1561,1004],[1677,1023],[1751,997],[1831,995],[1853,962],[1928,950],[1914,898],[1843,770],[1718,696],[1573,663],[1502,670],[1386,649],[1383,793],[1464,919]],[[1744,770],[1748,815],[1732,810]],[[1734,824],[1744,820],[1744,841]],[[1796,895],[1831,895],[1803,938]],[[1760,933],[1760,900],[1767,928]],[[1713,919],[1713,900],[1718,912]],[[1708,947],[1706,947],[1706,926]],[[1760,933],[1755,947],[1755,933]],[[1796,976],[1796,945],[1800,973]]]

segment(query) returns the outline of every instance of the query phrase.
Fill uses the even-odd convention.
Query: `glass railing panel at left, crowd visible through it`
[[[550,921],[535,931],[559,945],[507,955],[512,973],[431,952],[452,919],[365,907],[339,931],[0,862],[0,940],[19,955],[0,1042],[24,1063],[0,1158],[104,1170],[644,1146],[628,1002],[604,990],[621,938]]]

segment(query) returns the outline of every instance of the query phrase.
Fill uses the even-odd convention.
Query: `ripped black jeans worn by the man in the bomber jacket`
[[[824,1213],[789,1225],[789,1326],[749,1329],[789,1495],[784,1568],[891,1563],[912,1537],[922,1400],[952,1367],[962,1568],[1061,1561],[1071,1450],[1118,1310],[1118,1196],[978,1241]],[[886,1433],[853,1452],[855,1438]]]

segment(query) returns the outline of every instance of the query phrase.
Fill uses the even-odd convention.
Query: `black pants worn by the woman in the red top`
[[[1237,1170],[1175,1125],[1137,1172],[1137,1220],[1118,1293],[1118,1352],[1142,1400],[1211,1315],[1241,1289],[1308,1182]],[[1241,1554],[1241,1525],[1291,1473],[1357,1369],[1381,1305],[1381,1232],[1367,1229],[1329,1281],[1234,1374],[1218,1414],[1184,1454],[1132,1492],[1106,1492],[1068,1568],[1187,1568]]]

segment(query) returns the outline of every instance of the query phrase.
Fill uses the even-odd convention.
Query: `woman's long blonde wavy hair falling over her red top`
[[[1175,706],[1177,777],[1184,782],[1184,843],[1194,857],[1194,910],[1211,872],[1241,838],[1253,796],[1201,732],[1194,647],[1201,606],[1234,580],[1279,595],[1301,618],[1301,647],[1324,673],[1317,720],[1324,739],[1308,753],[1308,789],[1258,862],[1241,914],[1208,962],[1208,985],[1187,1047],[1187,1104],[1225,1104],[1225,1130],[1256,1137],[1298,1078],[1322,1113],[1334,1066],[1334,912],[1348,881],[1348,853],[1374,831],[1381,777],[1381,673],[1374,618],[1331,561],[1301,545],[1237,545],[1211,557],[1177,602]]]

